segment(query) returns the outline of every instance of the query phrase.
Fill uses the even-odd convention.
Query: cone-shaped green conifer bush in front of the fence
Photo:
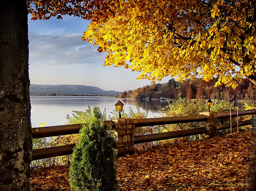
[[[116,171],[113,139],[104,129],[103,115],[93,108],[91,120],[82,128],[73,151],[70,185],[74,191],[114,191]]]

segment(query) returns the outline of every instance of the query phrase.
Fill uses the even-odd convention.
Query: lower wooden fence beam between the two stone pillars
[[[165,139],[173,139],[173,138],[179,138],[179,137],[185,137],[185,136],[203,134],[203,133],[206,133],[204,129],[196,128],[196,129],[188,129],[188,130],[180,130],[180,131],[170,131],[170,132],[138,135],[138,136],[134,136],[134,144],[160,141]]]

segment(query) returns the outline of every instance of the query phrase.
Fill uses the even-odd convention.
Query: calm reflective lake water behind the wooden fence
[[[79,97],[79,96],[30,96],[31,100],[31,124],[32,127],[38,127],[40,123],[47,122],[46,126],[64,125],[67,120],[67,114],[72,111],[85,111],[88,106],[97,106],[101,111],[106,108],[107,116],[113,116],[110,112],[115,109],[115,104],[120,100],[124,105],[124,110],[128,113],[129,107],[134,112],[139,106],[140,111],[147,111],[148,117],[158,117],[159,109],[165,107],[166,100],[136,100],[132,98],[114,98],[114,97]],[[253,102],[252,102],[253,103]],[[244,101],[235,102],[236,107],[242,107]]]

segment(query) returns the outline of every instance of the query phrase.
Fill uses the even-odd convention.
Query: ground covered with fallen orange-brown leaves
[[[160,145],[118,157],[118,191],[248,190],[255,177],[254,134],[234,133],[203,141]],[[70,190],[69,167],[31,172],[31,191]]]

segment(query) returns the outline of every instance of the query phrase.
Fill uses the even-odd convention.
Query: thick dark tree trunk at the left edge
[[[0,3],[0,190],[29,191],[32,153],[26,0]]]

